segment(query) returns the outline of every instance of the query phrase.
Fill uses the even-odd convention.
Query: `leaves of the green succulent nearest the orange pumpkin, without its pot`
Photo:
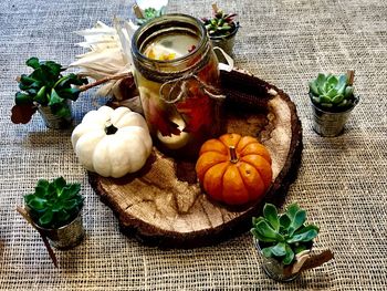
[[[295,254],[311,249],[318,233],[314,225],[305,225],[306,211],[292,204],[279,215],[274,205],[265,204],[263,217],[252,219],[250,232],[258,239],[262,253],[283,264],[291,264]]]

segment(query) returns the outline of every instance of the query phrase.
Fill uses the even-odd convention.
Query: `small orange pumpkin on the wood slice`
[[[244,205],[260,199],[269,188],[271,157],[257,138],[224,134],[201,146],[196,173],[212,199]]]

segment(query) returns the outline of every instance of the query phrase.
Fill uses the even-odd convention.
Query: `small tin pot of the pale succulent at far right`
[[[358,104],[359,97],[356,97],[353,107],[344,112],[327,112],[318,108],[316,105],[312,104],[313,113],[313,129],[321,136],[334,137],[343,133],[345,123],[347,122],[351,112]]]

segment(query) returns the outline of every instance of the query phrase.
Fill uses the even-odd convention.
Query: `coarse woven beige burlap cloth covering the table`
[[[212,1],[169,1],[169,11],[208,15]],[[71,132],[49,131],[36,115],[13,125],[14,77],[30,56],[69,64],[81,49],[72,31],[113,15],[128,18],[133,1],[2,0],[0,2],[0,289],[1,290],[386,290],[387,3],[383,0],[218,1],[240,15],[238,66],[283,89],[297,106],[304,152],[286,204],[299,201],[321,227],[316,249],[335,260],[281,284],[265,277],[251,236],[216,247],[159,250],[124,237],[93,193],[71,148]],[[312,129],[307,81],[318,72],[356,70],[360,104],[345,134]],[[74,106],[76,121],[95,103]],[[38,233],[15,212],[39,178],[63,175],[86,196],[85,241],[56,251],[54,269]]]

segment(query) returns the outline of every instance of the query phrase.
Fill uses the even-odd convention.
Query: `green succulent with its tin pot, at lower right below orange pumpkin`
[[[250,230],[263,258],[263,270],[278,281],[291,281],[310,257],[313,239],[318,233],[315,225],[305,225],[306,211],[292,204],[282,215],[274,205],[265,204],[263,217],[253,218]]]

